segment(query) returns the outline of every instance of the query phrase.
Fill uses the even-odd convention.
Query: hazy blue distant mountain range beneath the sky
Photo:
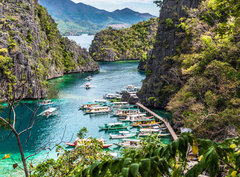
[[[71,0],[39,0],[58,23],[62,34],[96,33],[108,26],[130,26],[154,16],[129,8],[108,12]]]

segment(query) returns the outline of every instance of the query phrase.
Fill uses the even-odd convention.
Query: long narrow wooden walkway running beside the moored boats
[[[155,112],[151,111],[150,109],[148,109],[147,107],[143,106],[141,103],[136,103],[137,106],[141,107],[142,109],[144,109],[145,111],[147,111],[149,114],[153,115],[155,118],[161,120],[167,127],[168,131],[170,132],[172,138],[175,140],[178,139],[177,134],[175,133],[175,131],[173,130],[172,126],[169,124],[169,122],[167,122],[164,118],[160,117],[159,115],[157,115]]]

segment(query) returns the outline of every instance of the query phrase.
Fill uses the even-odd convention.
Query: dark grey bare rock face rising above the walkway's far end
[[[176,54],[185,33],[176,27],[179,19],[186,17],[186,9],[196,8],[199,0],[165,0],[159,17],[159,28],[153,51],[148,55],[146,79],[138,96],[146,106],[165,108],[170,97],[176,93],[184,82],[178,63],[167,57]]]

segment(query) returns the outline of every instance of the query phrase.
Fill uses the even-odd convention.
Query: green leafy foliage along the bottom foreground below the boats
[[[122,158],[105,156],[94,140],[88,146],[65,151],[60,158],[40,164],[34,176],[198,176],[206,171],[211,177],[240,176],[240,139],[215,143],[182,134],[177,141],[162,146],[159,139],[145,139],[142,149],[129,149]],[[189,145],[199,156],[199,163],[188,168]]]

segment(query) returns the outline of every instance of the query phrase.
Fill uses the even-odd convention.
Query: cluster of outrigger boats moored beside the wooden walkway
[[[124,91],[126,90],[136,91],[137,88],[127,86]],[[152,135],[158,137],[170,136],[166,132],[167,128],[163,122],[157,121],[155,117],[149,116],[145,112],[141,112],[135,105],[121,102],[121,93],[106,94],[103,98],[104,100],[95,100],[83,104],[79,109],[85,114],[110,114],[111,117],[116,118],[116,122],[99,126],[99,131],[108,133],[110,139],[120,140],[118,143],[113,143],[117,147],[141,148],[140,142],[143,137]],[[120,100],[114,102],[117,99]]]

